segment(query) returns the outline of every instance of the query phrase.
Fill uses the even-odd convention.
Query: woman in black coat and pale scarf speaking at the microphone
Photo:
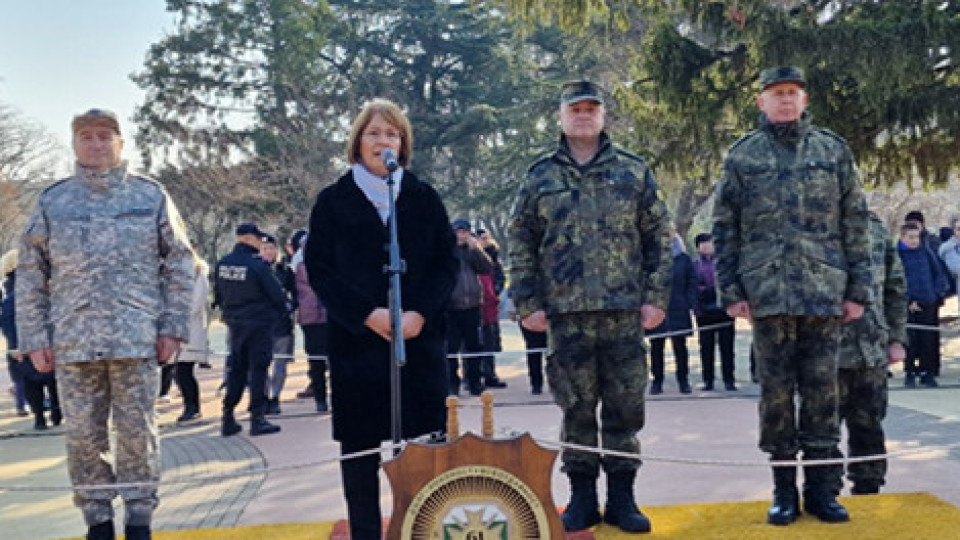
[[[317,196],[310,216],[304,264],[327,308],[333,437],[341,453],[380,446],[391,437],[389,201],[381,153],[391,149],[401,166],[396,199],[403,338],[403,437],[445,428],[447,362],[444,312],[456,281],[455,239],[437,192],[406,170],[412,131],[397,105],[368,103],[347,143],[349,172]],[[351,537],[381,535],[380,456],[341,463]]]

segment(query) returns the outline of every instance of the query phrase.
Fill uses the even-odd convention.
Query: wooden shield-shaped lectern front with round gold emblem
[[[390,540],[562,539],[551,495],[557,452],[529,434],[493,439],[493,395],[483,400],[483,436],[458,436],[459,400],[447,398],[445,444],[407,445],[384,463],[393,488]]]

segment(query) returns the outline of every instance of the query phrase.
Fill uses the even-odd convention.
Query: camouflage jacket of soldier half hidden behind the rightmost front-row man
[[[870,215],[873,303],[863,317],[843,326],[842,368],[885,367],[887,346],[907,343],[907,281],[897,247],[883,222]]]

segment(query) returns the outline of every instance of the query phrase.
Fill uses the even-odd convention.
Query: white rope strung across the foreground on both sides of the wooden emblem
[[[510,436],[519,435],[517,432],[511,432],[509,430],[501,430],[501,434],[506,434]],[[416,441],[416,440],[414,440]],[[576,451],[576,452],[585,452],[590,454],[596,454],[601,457],[610,456],[617,457],[622,459],[628,459],[632,461],[652,461],[660,463],[673,463],[680,465],[703,465],[703,466],[713,466],[713,467],[796,467],[796,466],[822,466],[822,465],[847,465],[850,463],[863,463],[867,461],[878,461],[882,459],[894,459],[906,456],[914,456],[919,454],[930,454],[930,453],[942,453],[945,454],[950,450],[955,448],[960,448],[960,442],[938,445],[938,446],[918,446],[916,448],[909,448],[904,450],[899,450],[896,452],[886,452],[884,454],[874,454],[870,456],[858,456],[858,457],[838,457],[838,458],[829,458],[829,459],[810,459],[810,460],[780,460],[780,461],[758,461],[758,460],[720,460],[720,459],[708,459],[708,458],[680,458],[680,457],[666,457],[666,456],[657,456],[657,455],[643,455],[635,454],[631,452],[621,452],[618,450],[611,450],[607,448],[599,448],[593,446],[583,446],[574,443],[566,443],[562,441],[552,441],[547,439],[534,438],[534,441],[541,446],[547,448],[557,448],[559,450],[565,451]],[[389,450],[402,450],[409,444],[409,441],[403,441],[398,444],[389,444],[377,448],[372,448],[370,450],[364,450],[361,452],[354,452],[351,454],[345,454],[342,456],[321,459],[316,461],[308,461],[303,463],[295,463],[290,465],[280,465],[276,467],[262,467],[254,470],[248,471],[237,471],[232,473],[223,473],[223,474],[213,474],[205,476],[192,476],[189,478],[177,478],[165,479],[160,482],[123,482],[123,483],[113,483],[113,484],[87,484],[87,485],[78,485],[78,486],[18,486],[18,485],[0,485],[0,492],[10,491],[10,492],[57,492],[57,491],[88,491],[88,490],[121,490],[121,489],[136,489],[136,488],[153,488],[160,486],[168,485],[181,485],[181,484],[199,484],[199,483],[213,483],[220,482],[225,480],[234,480],[237,478],[244,478],[250,476],[259,476],[266,475],[268,473],[282,473],[289,471],[299,471],[303,469],[309,469],[313,467],[319,467],[323,465],[330,465],[333,463],[339,463],[341,461],[346,461],[349,459],[356,459],[360,457],[365,457],[369,455],[379,454],[384,451]]]

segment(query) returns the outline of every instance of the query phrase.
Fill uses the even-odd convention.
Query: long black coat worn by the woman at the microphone
[[[403,437],[445,429],[448,393],[444,312],[456,282],[456,244],[440,196],[404,171],[397,198],[404,311],[426,320],[406,341],[401,371]],[[390,343],[367,328],[388,307],[389,229],[348,172],[317,195],[304,256],[327,308],[333,438],[373,444],[391,438]]]

